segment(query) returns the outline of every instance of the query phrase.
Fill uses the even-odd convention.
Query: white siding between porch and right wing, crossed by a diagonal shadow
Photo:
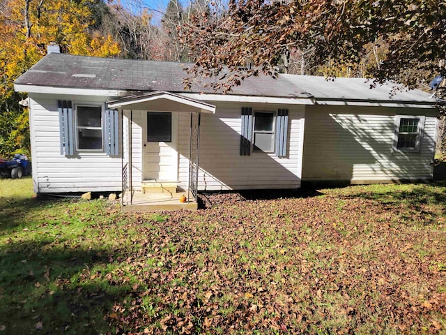
[[[242,107],[275,110],[280,105],[217,105],[215,114],[201,115],[199,190],[220,191],[255,188],[298,188],[302,163],[305,106],[289,110],[287,155],[254,151],[240,156],[240,113]],[[189,173],[190,114],[178,120],[178,180],[187,188]]]

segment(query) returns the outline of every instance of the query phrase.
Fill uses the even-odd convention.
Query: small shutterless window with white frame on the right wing
[[[397,116],[395,121],[394,149],[398,151],[419,151],[424,118]]]

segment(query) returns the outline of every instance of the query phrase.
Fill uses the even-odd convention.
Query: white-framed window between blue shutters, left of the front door
[[[77,150],[102,151],[102,107],[76,107]]]

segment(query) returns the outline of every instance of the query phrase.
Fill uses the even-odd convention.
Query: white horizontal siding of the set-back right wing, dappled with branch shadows
[[[397,114],[426,116],[419,152],[394,151]],[[307,106],[302,180],[430,179],[436,124],[433,109]]]

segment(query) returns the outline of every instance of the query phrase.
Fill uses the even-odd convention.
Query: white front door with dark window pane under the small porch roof
[[[177,181],[176,112],[146,112],[143,131],[144,180]]]

